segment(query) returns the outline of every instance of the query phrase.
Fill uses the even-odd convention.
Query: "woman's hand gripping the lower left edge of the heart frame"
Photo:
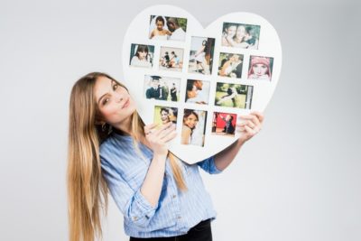
[[[174,125],[172,122],[162,125],[161,127],[155,123],[144,126],[145,138],[150,144],[154,155],[168,154],[167,143],[177,135],[175,127],[176,125]]]

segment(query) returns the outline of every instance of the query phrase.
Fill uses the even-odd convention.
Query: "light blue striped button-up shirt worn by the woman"
[[[153,151],[139,144],[142,158],[129,135],[113,133],[100,146],[103,176],[116,206],[124,214],[127,236],[161,237],[186,234],[191,227],[208,218],[216,218],[216,211],[199,174],[199,167],[208,173],[220,172],[214,156],[197,164],[180,162],[188,190],[177,189],[169,160],[165,164],[162,192],[153,207],[140,191]]]

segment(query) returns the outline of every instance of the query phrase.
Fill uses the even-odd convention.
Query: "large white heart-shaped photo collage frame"
[[[232,13],[207,28],[187,11],[154,5],[130,23],[125,86],[145,124],[176,125],[171,153],[202,161],[233,144],[237,116],[264,111],[281,73],[281,42],[263,17]]]

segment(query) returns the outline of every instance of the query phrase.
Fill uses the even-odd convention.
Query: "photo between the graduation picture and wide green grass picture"
[[[208,105],[209,87],[209,81],[188,79],[185,102]]]

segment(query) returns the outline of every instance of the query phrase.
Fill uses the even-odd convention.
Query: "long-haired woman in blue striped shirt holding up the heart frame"
[[[125,86],[104,73],[79,79],[69,105],[69,240],[101,236],[108,190],[124,214],[130,240],[211,240],[215,212],[198,167],[209,173],[227,168],[263,118],[244,116],[243,135],[227,151],[187,165],[167,149],[176,136],[171,122],[144,125]]]

